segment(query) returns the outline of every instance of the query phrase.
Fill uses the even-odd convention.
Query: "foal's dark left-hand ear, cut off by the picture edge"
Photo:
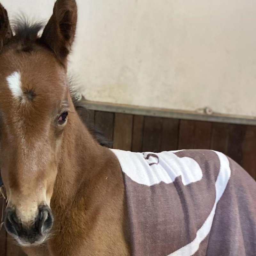
[[[4,44],[12,38],[12,29],[8,19],[7,11],[4,6],[0,4],[0,51],[2,50]]]

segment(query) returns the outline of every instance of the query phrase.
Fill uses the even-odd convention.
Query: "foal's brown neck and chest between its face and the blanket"
[[[113,152],[95,142],[80,119],[71,126],[66,131],[72,136],[63,137],[51,201],[51,255],[71,255],[76,250],[83,250],[76,255],[91,255],[97,250],[102,252],[99,255],[112,255],[105,254],[110,244],[116,244],[116,253],[130,255],[120,164]],[[82,244],[82,239],[88,243]],[[104,241],[101,249],[97,241]]]

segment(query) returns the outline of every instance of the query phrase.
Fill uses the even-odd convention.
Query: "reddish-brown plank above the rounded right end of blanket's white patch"
[[[196,121],[180,120],[178,149],[195,148]]]

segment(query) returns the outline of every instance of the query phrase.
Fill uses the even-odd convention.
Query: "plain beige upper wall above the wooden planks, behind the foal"
[[[46,19],[53,0],[0,0]],[[256,116],[255,0],[77,0],[87,99]]]

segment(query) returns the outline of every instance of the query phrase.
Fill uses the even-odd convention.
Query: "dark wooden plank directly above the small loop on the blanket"
[[[163,119],[145,116],[142,151],[160,152]]]

